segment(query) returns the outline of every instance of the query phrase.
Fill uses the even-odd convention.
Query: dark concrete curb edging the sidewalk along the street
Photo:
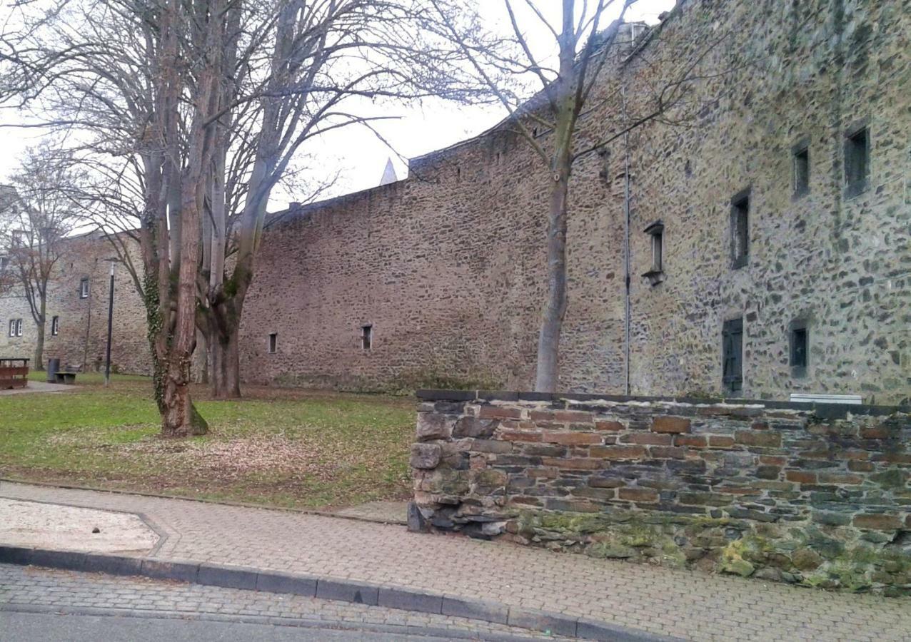
[[[372,606],[386,606],[417,613],[466,617],[532,631],[568,637],[616,642],[656,642],[678,638],[660,637],[607,622],[565,616],[496,602],[470,600],[427,591],[377,586],[349,579],[304,576],[264,571],[245,566],[222,566],[193,560],[161,560],[56,551],[43,548],[0,545],[0,564],[46,566],[69,571],[101,572],[123,576],[145,576],[204,586],[225,586],[249,590],[291,593]]]

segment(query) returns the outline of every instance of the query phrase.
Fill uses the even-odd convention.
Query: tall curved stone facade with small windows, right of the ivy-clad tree
[[[908,400],[911,2],[688,0],[623,28],[581,136],[616,138],[571,179],[560,389]],[[685,99],[622,135],[681,68]],[[277,213],[244,379],[531,387],[548,180],[507,123]]]

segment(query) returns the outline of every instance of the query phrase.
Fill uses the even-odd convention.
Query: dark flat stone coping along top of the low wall
[[[769,399],[739,397],[636,397],[620,394],[583,394],[578,392],[516,392],[490,390],[419,390],[417,398],[425,402],[636,402],[690,403],[701,405],[762,405],[768,410],[795,410],[814,413],[821,419],[844,419],[848,415],[885,416],[911,413],[911,406],[882,406],[867,403],[776,402]]]

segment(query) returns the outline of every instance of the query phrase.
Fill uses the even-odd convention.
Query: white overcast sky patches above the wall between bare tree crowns
[[[537,3],[549,11],[552,24],[559,24],[558,0],[539,0]],[[480,0],[488,28],[508,29],[503,3],[497,0]],[[517,5],[522,5],[518,3]],[[581,3],[580,3],[581,5]],[[627,20],[658,21],[658,15],[668,11],[674,0],[640,0],[627,12]],[[618,12],[619,13],[619,12]],[[613,19],[615,15],[610,15]],[[523,28],[528,28],[527,38],[536,49],[536,54],[546,56],[553,48],[553,36],[529,16],[519,15]],[[556,18],[554,20],[553,18]],[[607,22],[602,20],[602,24]],[[535,28],[537,27],[537,28]],[[383,121],[376,128],[394,147],[388,148],[374,134],[363,127],[346,127],[323,137],[310,148],[313,172],[321,178],[340,172],[333,189],[326,196],[335,196],[359,189],[372,188],[379,184],[387,158],[393,158],[399,178],[407,174],[406,163],[396,156],[415,158],[435,149],[445,148],[460,140],[472,138],[499,122],[506,112],[502,107],[464,107],[441,100],[428,100],[424,105],[398,107],[393,121]],[[0,111],[0,123],[15,123],[20,120],[15,112]],[[41,131],[23,128],[0,128],[0,179],[5,178],[16,167],[17,156],[41,137]],[[271,201],[271,209],[283,207],[289,197],[277,190]]]

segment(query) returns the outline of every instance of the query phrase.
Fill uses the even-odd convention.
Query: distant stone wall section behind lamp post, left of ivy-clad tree
[[[60,359],[63,367],[104,371],[107,348],[109,262],[114,252],[106,239],[84,236],[67,241],[48,286],[45,364]],[[138,259],[137,257],[134,257]],[[80,296],[80,282],[88,280],[88,296]],[[51,334],[53,317],[59,332]],[[10,319],[22,319],[21,337],[10,337]],[[0,356],[32,359],[37,330],[21,290],[0,294]],[[118,265],[114,275],[114,322],[111,368],[114,372],[148,374],[151,358],[146,339],[142,301],[127,270]],[[31,364],[35,367],[35,364]]]

